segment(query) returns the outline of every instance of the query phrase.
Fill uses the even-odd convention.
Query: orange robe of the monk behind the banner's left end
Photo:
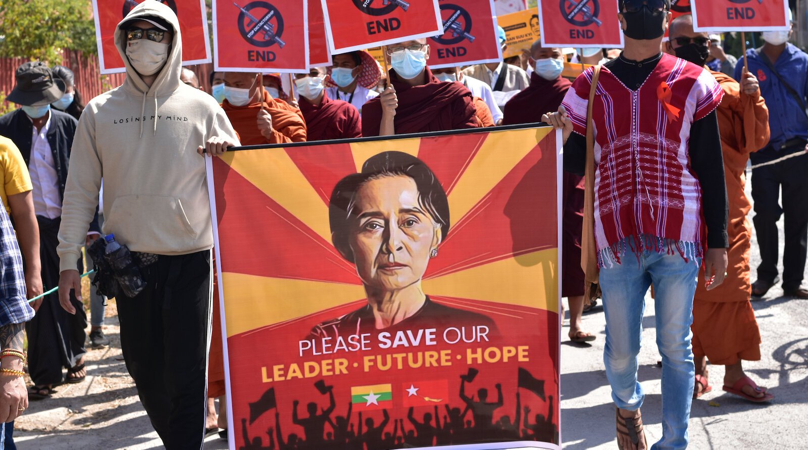
[[[253,102],[242,107],[231,105],[226,99],[221,103],[227,118],[238,132],[242,145],[284,144],[306,140],[303,113],[281,99],[273,99],[263,91],[263,107],[272,116],[272,136],[270,139],[258,129],[258,113],[261,103]]]

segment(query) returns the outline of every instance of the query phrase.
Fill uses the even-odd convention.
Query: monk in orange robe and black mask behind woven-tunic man
[[[710,40],[706,32],[694,32],[691,15],[681,15],[671,22],[671,40],[666,46],[696,65],[704,65],[709,54]],[[684,44],[687,42],[687,44]],[[759,388],[743,372],[741,360],[760,360],[760,330],[750,300],[749,254],[751,226],[747,213],[751,208],[744,191],[749,154],[768,143],[768,108],[760,96],[754,74],[743,72],[739,84],[732,77],[711,70],[724,90],[718,107],[718,128],[721,131],[726,188],[730,204],[728,251],[729,269],[724,284],[707,291],[701,273],[696,298],[693,301],[693,355],[696,364],[696,384],[693,397],[712,390],[707,373],[707,359],[722,364],[724,390],[752,402],[771,400],[772,394]]]

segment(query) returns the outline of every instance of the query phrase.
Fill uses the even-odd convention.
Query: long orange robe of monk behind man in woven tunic
[[[718,128],[724,153],[726,192],[730,215],[727,233],[729,265],[724,283],[712,291],[705,288],[705,274],[699,274],[693,301],[693,354],[707,356],[712,364],[735,364],[739,360],[760,360],[760,329],[751,297],[749,254],[751,209],[744,188],[749,154],[768,144],[768,108],[760,90],[741,92],[739,82],[711,71],[724,90],[718,106]]]

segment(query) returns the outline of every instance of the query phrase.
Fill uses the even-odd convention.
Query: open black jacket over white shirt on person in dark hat
[[[70,160],[70,148],[73,146],[73,137],[76,134],[78,121],[72,116],[51,108],[51,123],[48,128],[48,144],[53,152],[53,162],[59,178],[59,197],[65,200],[65,183],[67,183],[67,168]],[[19,153],[23,154],[26,166],[31,164],[31,143],[34,131],[32,120],[22,108],[0,116],[0,136],[14,141]],[[98,213],[96,211],[90,223],[90,231],[98,231]]]

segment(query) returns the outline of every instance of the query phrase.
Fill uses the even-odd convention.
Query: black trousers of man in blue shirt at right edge
[[[808,156],[752,170],[752,199],[755,200],[753,221],[761,259],[758,280],[773,283],[776,279],[780,259],[776,222],[785,215],[783,289],[799,288],[808,248]]]

